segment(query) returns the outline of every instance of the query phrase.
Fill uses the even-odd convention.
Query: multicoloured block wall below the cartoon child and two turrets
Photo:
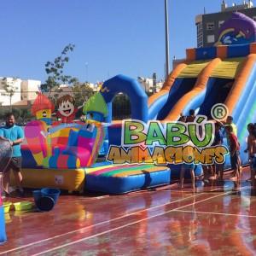
[[[27,147],[38,166],[45,168],[79,168],[90,166],[102,145],[105,132],[102,125],[73,123],[48,126],[34,120],[26,125]]]

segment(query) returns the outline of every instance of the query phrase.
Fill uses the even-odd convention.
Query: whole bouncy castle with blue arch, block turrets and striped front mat
[[[132,98],[132,118],[147,121],[148,96],[137,81],[123,75],[108,80],[102,92],[84,104],[84,122],[71,118],[76,111],[71,96],[62,96],[57,101],[60,119],[53,121],[53,103],[39,94],[32,106],[36,119],[26,125],[26,143],[22,145],[24,186],[53,187],[70,192],[82,192],[85,186],[93,191],[122,194],[170,183],[167,166],[96,163],[102,143],[113,143],[114,137],[120,139],[119,124],[115,124],[116,130],[108,121],[113,97],[121,91]]]

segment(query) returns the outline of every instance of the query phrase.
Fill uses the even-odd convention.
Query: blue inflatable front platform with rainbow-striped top
[[[167,166],[104,165],[85,168],[85,190],[108,194],[125,194],[171,182]]]

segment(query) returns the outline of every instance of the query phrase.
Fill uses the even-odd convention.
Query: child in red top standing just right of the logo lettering
[[[240,157],[239,157],[239,150],[240,150],[240,144],[237,140],[236,135],[234,134],[233,127],[231,125],[227,125],[225,127],[227,137],[228,137],[228,143],[230,147],[230,162],[231,162],[231,168],[234,170],[234,180],[239,180],[240,178]]]

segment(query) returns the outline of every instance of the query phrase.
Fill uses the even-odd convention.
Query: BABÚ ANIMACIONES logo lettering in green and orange
[[[215,124],[206,116],[193,123],[125,120],[122,145],[110,146],[107,160],[113,164],[223,164],[229,150],[213,145]]]

